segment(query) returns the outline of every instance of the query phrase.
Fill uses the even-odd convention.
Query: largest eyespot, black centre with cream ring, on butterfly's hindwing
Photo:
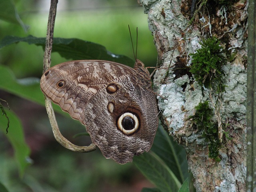
[[[140,128],[140,120],[136,114],[126,112],[117,118],[116,126],[122,133],[131,135]]]

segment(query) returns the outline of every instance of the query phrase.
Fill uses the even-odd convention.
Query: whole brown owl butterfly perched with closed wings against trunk
[[[85,125],[106,158],[120,164],[150,150],[158,108],[150,74],[136,59],[134,68],[104,60],[77,60],[47,70],[42,92]]]

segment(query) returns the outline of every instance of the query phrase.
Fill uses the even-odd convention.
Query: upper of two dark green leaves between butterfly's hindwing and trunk
[[[183,146],[177,144],[159,125],[151,150],[158,155],[182,183],[188,177],[188,162]]]

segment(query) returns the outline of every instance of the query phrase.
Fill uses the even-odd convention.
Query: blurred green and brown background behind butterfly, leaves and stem
[[[8,35],[45,37],[50,0],[20,0],[15,1],[15,6],[28,30],[25,32],[20,25],[0,20],[0,39]],[[138,26],[138,59],[146,66],[155,66],[156,48],[148,30],[147,15],[137,0],[60,0],[54,37],[95,42],[112,53],[133,58],[128,24],[134,42]],[[43,54],[40,46],[24,42],[12,44],[0,49],[0,65],[8,66],[18,79],[35,77],[39,80]],[[52,54],[52,65],[64,61],[66,59],[58,53]],[[119,165],[105,159],[99,150],[80,154],[60,146],[54,139],[44,106],[3,90],[0,90],[0,98],[6,100],[10,111],[18,116],[31,150],[28,161],[32,164],[21,178],[12,146],[5,133],[0,133],[0,182],[10,192],[139,192],[143,187],[153,186],[132,163]],[[5,102],[2,104],[6,106]],[[73,138],[85,130],[79,122],[65,114],[57,114],[57,120],[62,133],[71,142],[90,144],[89,137]],[[10,122],[9,132],[12,129]]]

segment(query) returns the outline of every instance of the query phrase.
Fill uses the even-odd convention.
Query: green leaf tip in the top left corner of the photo
[[[0,1],[0,19],[15,24],[20,24],[26,32],[28,27],[22,22],[12,0]]]

